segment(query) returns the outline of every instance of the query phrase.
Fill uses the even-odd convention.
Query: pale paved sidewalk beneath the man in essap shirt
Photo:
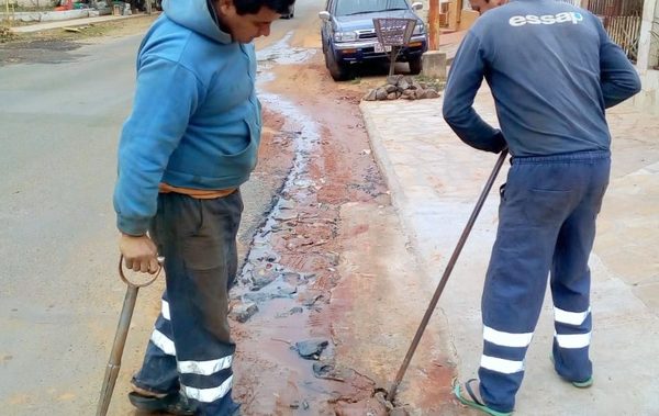
[[[496,122],[487,89],[476,106]],[[496,156],[454,135],[442,117],[442,99],[362,102],[361,111],[405,233],[436,285]],[[610,112],[608,121],[613,172],[591,258],[595,384],[577,390],[555,374],[547,297],[517,395],[520,416],[659,415],[659,119],[623,105]],[[444,316],[431,322],[448,322],[444,336],[457,351],[460,379],[474,376],[480,361],[480,295],[496,231],[495,191],[506,170],[507,164],[439,301],[435,314]],[[417,307],[425,308],[431,296],[420,299]]]

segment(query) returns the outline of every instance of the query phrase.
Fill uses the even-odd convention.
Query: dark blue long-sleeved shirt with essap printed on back
[[[473,110],[483,77],[501,132]],[[590,12],[513,0],[479,18],[450,69],[444,117],[468,145],[513,156],[608,149],[604,112],[640,90],[623,50]],[[503,134],[502,134],[503,133]]]

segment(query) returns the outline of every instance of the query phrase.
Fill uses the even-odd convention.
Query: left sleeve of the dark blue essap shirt
[[[469,146],[499,153],[505,147],[503,135],[473,110],[473,99],[483,81],[484,71],[480,41],[469,32],[450,68],[444,92],[444,120]]]

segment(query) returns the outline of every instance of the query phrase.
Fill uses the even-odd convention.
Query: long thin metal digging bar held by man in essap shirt
[[[496,160],[496,164],[494,165],[494,169],[492,170],[492,173],[490,173],[490,178],[488,178],[488,181],[485,182],[485,187],[483,188],[483,191],[481,192],[480,198],[478,199],[478,202],[476,203],[476,207],[473,209],[473,212],[471,213],[471,216],[469,217],[469,221],[467,222],[467,225],[465,226],[465,229],[462,231],[462,235],[460,235],[458,245],[454,249],[450,260],[448,261],[448,265],[446,266],[446,270],[444,270],[444,274],[442,276],[442,280],[439,281],[437,289],[435,290],[435,294],[433,295],[433,299],[431,300],[431,304],[428,305],[428,308],[426,310],[425,315],[423,315],[421,325],[418,326],[418,329],[416,329],[416,335],[414,336],[414,339],[412,340],[412,345],[410,346],[410,349],[407,350],[407,355],[405,356],[405,359],[403,360],[403,363],[402,363],[401,368],[399,369],[398,374],[395,375],[395,380],[391,384],[391,387],[389,387],[389,393],[387,395],[387,400],[391,403],[393,403],[393,400],[395,398],[396,390],[398,390],[399,385],[401,384],[403,376],[405,376],[407,367],[410,367],[410,361],[412,361],[412,357],[414,356],[414,352],[416,352],[416,347],[418,347],[421,337],[423,336],[423,333],[424,333],[426,326],[428,325],[428,322],[431,321],[431,316],[433,316],[433,313],[435,312],[435,307],[437,306],[437,302],[439,302],[439,296],[442,296],[442,292],[444,292],[444,286],[446,286],[446,282],[448,282],[448,278],[450,277],[450,273],[451,273],[454,267],[456,266],[456,261],[458,260],[458,257],[460,256],[460,252],[462,251],[462,247],[465,247],[465,243],[467,243],[467,237],[469,237],[469,233],[471,233],[471,228],[473,228],[476,218],[478,217],[478,214],[480,213],[481,209],[483,207],[483,204],[485,203],[485,199],[488,198],[488,194],[490,193],[490,190],[492,189],[492,184],[494,183],[496,176],[499,176],[499,171],[501,170],[501,167],[503,166],[503,162],[505,161],[506,156],[507,156],[507,149],[503,150],[501,153],[501,155],[499,156],[499,159]]]

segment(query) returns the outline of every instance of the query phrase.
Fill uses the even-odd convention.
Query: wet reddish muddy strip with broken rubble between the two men
[[[366,328],[368,321],[388,308],[382,294],[364,293],[366,286],[345,267],[351,243],[377,231],[368,216],[391,214],[358,109],[367,87],[333,82],[316,49],[289,42],[287,35],[259,52],[259,97],[266,110],[259,169],[291,165],[271,212],[255,231],[232,292],[238,345],[234,396],[246,415],[388,414],[373,394],[389,387],[402,356],[381,357],[381,345],[358,341],[356,331],[379,330]],[[364,221],[346,224],[342,210],[350,204],[366,207]],[[378,279],[381,260],[373,259],[366,279]],[[355,302],[361,315],[347,314],[355,312]],[[388,328],[391,342],[406,347],[411,338],[396,337],[394,328],[418,321],[391,319],[399,321]],[[425,375],[448,385],[453,370],[440,361],[432,362]],[[422,414],[420,405],[438,409],[447,394],[424,401],[404,408],[412,414]]]

